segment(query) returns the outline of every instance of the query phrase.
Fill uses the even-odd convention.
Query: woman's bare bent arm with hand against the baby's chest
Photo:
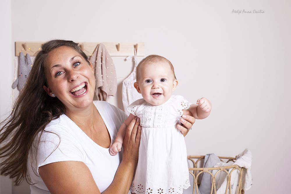
[[[138,161],[141,127],[135,119],[126,129],[123,141],[123,159],[113,182],[103,193],[127,193]],[[100,191],[89,168],[79,161],[63,161],[40,166],[39,175],[50,193],[97,193]],[[102,178],[102,175],[100,175]]]

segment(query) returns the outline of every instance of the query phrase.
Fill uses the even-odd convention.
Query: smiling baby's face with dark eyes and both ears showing
[[[178,84],[170,65],[163,61],[145,64],[138,73],[139,77],[134,86],[143,99],[154,106],[164,104]]]

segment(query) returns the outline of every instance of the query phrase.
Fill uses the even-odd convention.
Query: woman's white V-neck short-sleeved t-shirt
[[[105,101],[94,101],[94,104],[109,131],[111,142],[114,142],[116,134],[127,115]],[[111,156],[109,148],[96,144],[64,114],[46,126],[41,135],[37,158],[34,159],[33,154],[32,158],[31,162],[29,155],[28,172],[31,181],[36,183],[30,186],[32,194],[49,193],[38,174],[38,167],[59,161],[84,162],[90,169],[102,193],[113,181],[122,160],[122,154],[118,152],[116,156]]]

